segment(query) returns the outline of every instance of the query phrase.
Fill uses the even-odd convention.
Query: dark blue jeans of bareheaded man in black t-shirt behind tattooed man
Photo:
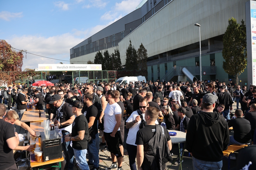
[[[98,133],[96,134],[96,137],[99,137]],[[95,168],[99,167],[99,152],[97,151],[97,147],[96,147],[96,140],[92,139],[92,143],[91,144],[87,144],[87,150],[88,150],[88,162],[89,163],[93,163],[93,166]]]

